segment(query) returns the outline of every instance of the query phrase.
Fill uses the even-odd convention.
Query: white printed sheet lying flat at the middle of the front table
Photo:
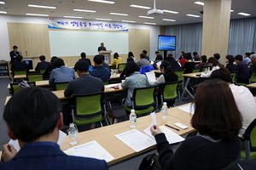
[[[156,144],[154,139],[148,137],[148,135],[144,133],[141,133],[137,129],[133,129],[125,133],[120,133],[114,136],[117,139],[124,142],[125,144],[127,144],[132,150],[135,150],[137,152],[141,150],[145,150],[148,147]]]

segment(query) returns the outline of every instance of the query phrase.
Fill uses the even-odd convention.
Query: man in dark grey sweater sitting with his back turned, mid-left
[[[104,91],[104,84],[100,78],[91,77],[89,74],[89,65],[84,60],[79,60],[74,70],[78,72],[79,78],[72,80],[68,83],[67,88],[64,91],[65,97],[70,97],[73,94],[95,94]],[[67,104],[63,111],[64,124],[68,125],[73,122],[71,115],[71,103]]]

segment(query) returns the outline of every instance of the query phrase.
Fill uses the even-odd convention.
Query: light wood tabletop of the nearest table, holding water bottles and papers
[[[180,116],[181,118],[178,118],[176,116],[172,116],[172,112],[176,111],[176,108],[169,109],[169,113],[171,115],[168,115],[166,119],[161,118],[161,113],[156,113],[156,120],[158,126],[162,126],[165,124],[174,126],[175,122],[181,122],[184,125],[188,126],[188,129],[180,129],[180,131],[174,130],[170,128],[174,133],[177,133],[178,135],[185,135],[188,133],[191,133],[195,131],[193,127],[190,126],[190,119],[189,120],[182,120],[183,116]],[[189,115],[188,112],[181,111],[182,115]],[[144,129],[146,129],[152,122],[151,116],[143,116],[140,118],[137,118],[137,127],[136,129],[140,132],[143,132]],[[169,127],[168,127],[169,128]],[[109,161],[108,165],[111,165],[113,163],[116,163],[118,161],[123,161],[127,158],[130,158],[131,156],[137,156],[138,154],[146,151],[146,150],[152,150],[155,148],[154,146],[149,147],[146,150],[143,150],[141,152],[136,152],[135,150],[132,150],[128,145],[121,142],[119,139],[114,137],[114,135],[119,133],[125,133],[126,131],[132,130],[133,128],[129,127],[129,121],[126,122],[119,122],[117,124],[109,125],[107,127],[99,127],[96,129],[92,129],[89,131],[85,131],[78,134],[79,143],[78,144],[84,144],[87,142],[90,142],[92,140],[96,140],[97,143],[101,144],[102,147],[107,150],[113,157],[113,161]],[[63,140],[63,142],[60,144],[61,150],[67,150],[72,145],[69,144],[68,136]]]

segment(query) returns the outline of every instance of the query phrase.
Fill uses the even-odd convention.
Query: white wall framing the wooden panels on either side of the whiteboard
[[[7,28],[7,22],[16,23],[36,23],[36,24],[48,24],[48,18],[45,17],[31,17],[31,16],[17,16],[9,14],[0,14],[0,60],[8,60],[9,51],[12,50],[12,46],[9,45],[9,33]],[[129,28],[148,29],[149,30],[149,52],[150,59],[154,59],[154,51],[157,50],[157,36],[159,34],[159,26],[130,24]],[[128,29],[129,29],[128,28]],[[19,36],[19,35],[17,35]],[[142,49],[143,51],[143,49]]]

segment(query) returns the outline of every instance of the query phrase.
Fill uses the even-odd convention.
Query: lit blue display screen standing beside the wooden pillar
[[[158,36],[159,51],[175,51],[176,37],[175,36]]]

